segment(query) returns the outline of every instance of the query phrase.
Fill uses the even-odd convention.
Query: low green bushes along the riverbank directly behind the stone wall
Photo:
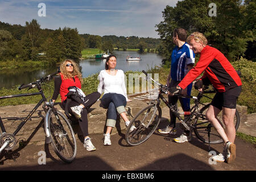
[[[119,63],[120,64],[120,63]],[[237,104],[247,106],[248,113],[256,113],[256,87],[254,86],[256,84],[256,63],[252,61],[248,61],[245,59],[241,59],[240,61],[235,61],[232,63],[235,69],[240,69],[242,72],[242,93],[238,97]],[[102,66],[102,68],[104,68]],[[159,82],[161,84],[166,84],[166,77],[170,71],[169,68],[162,68],[162,67],[154,67],[154,68],[148,68],[146,69],[148,73],[158,73],[159,74]],[[138,75],[143,74],[140,71],[126,71],[125,75],[128,78],[129,73],[137,73]],[[98,80],[97,80],[98,72],[94,73],[93,75],[90,75],[88,77],[84,78],[84,81],[82,83],[82,90],[84,90],[85,94],[89,94],[92,92],[97,91],[98,86]],[[38,77],[36,77],[38,79]],[[26,84],[26,83],[25,83]],[[18,90],[19,85],[13,86],[13,88],[1,88],[0,89],[0,96],[7,96],[7,95],[13,95],[13,94],[20,94],[20,93],[27,93],[27,90]],[[128,84],[127,84],[128,86]],[[45,93],[47,95],[47,98],[50,98],[53,93],[54,84],[53,81],[48,83],[48,86],[45,87]],[[129,90],[127,88],[127,90]],[[37,92],[36,89],[31,89],[28,92]],[[197,90],[195,88],[192,89],[192,95],[197,95]],[[213,96],[213,94],[212,94]],[[40,96],[34,96],[34,97],[19,97],[15,99],[5,99],[0,100],[1,106],[6,105],[19,105],[19,104],[32,104],[36,103],[40,100]],[[207,98],[203,99],[203,102],[209,102]]]

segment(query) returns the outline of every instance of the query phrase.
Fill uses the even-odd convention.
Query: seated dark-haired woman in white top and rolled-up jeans
[[[117,65],[117,57],[110,55],[106,59],[105,69],[98,75],[98,92],[104,92],[101,98],[101,104],[104,108],[108,108],[106,121],[106,134],[104,134],[104,145],[111,145],[110,133],[112,127],[115,127],[117,113],[120,114],[126,126],[130,121],[126,117],[126,102],[131,101],[127,98],[125,86],[125,74],[121,69],[115,69]]]

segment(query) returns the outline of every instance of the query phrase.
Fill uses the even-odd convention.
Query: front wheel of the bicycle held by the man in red
[[[148,105],[139,111],[127,127],[125,135],[127,144],[136,146],[145,142],[158,127],[161,117],[162,110],[159,106]],[[136,129],[130,131],[132,126],[135,126]]]

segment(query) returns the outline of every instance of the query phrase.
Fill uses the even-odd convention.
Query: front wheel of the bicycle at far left
[[[72,163],[76,156],[76,138],[68,119],[57,110],[49,113],[48,119],[51,146],[57,156],[66,163]]]

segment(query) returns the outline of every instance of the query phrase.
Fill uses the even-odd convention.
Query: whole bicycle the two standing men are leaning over
[[[155,81],[153,78],[147,76],[147,72],[142,71],[146,75],[146,80],[152,84],[154,82],[158,86],[158,91],[156,97],[154,97],[148,106],[141,109],[131,120],[129,126],[126,130],[125,140],[127,144],[131,146],[136,146],[145,142],[150,136],[154,133],[156,128],[159,125],[160,119],[162,118],[162,109],[159,106],[160,100],[166,104],[169,109],[175,113],[177,119],[181,122],[181,126],[183,126],[187,130],[193,130],[196,134],[196,137],[199,138],[202,142],[213,144],[213,143],[221,143],[223,142],[220,135],[218,135],[217,131],[213,128],[210,122],[205,117],[205,112],[207,111],[210,104],[204,104],[200,102],[202,97],[207,93],[215,93],[214,90],[203,90],[203,92],[199,92],[197,97],[195,96],[187,96],[182,94],[174,94],[177,97],[191,98],[195,101],[195,105],[192,106],[190,111],[179,112],[174,109],[166,98],[164,98],[163,94],[168,94],[168,88],[166,85],[162,85],[159,82]],[[150,90],[150,89],[149,89]],[[181,115],[184,115],[184,119],[181,118]],[[222,126],[222,117],[221,114],[218,115],[218,119],[220,119]],[[240,125],[240,115],[236,110],[236,116],[234,117],[234,126],[236,130]],[[136,129],[131,131],[131,127],[135,126]],[[211,137],[210,137],[211,136]],[[210,147],[210,146],[209,146]]]

